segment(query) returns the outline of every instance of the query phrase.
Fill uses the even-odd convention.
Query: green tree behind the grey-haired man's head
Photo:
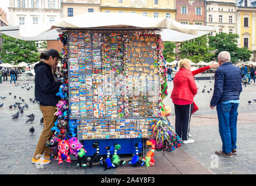
[[[220,52],[227,51],[230,53],[232,62],[248,60],[253,52],[247,48],[237,47],[238,39],[238,34],[220,33],[216,34],[216,36],[210,36],[209,46],[216,48],[215,56],[213,58],[217,60]]]

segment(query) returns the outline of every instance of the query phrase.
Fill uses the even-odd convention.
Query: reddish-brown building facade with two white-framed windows
[[[205,25],[205,0],[176,0],[176,9],[177,22]]]

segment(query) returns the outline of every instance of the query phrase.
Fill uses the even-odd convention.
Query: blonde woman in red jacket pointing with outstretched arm
[[[197,85],[194,76],[210,68],[216,68],[218,65],[210,65],[201,69],[191,70],[191,60],[181,59],[178,62],[180,70],[175,74],[173,80],[173,91],[171,98],[174,103],[175,112],[175,130],[179,137],[182,138],[183,144],[190,144],[194,140],[189,139],[190,119],[192,113],[198,110],[194,103],[194,96],[197,94]]]

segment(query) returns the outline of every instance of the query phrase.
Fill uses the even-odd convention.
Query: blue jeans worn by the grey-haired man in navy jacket
[[[216,106],[219,120],[219,134],[222,138],[222,151],[232,152],[236,149],[237,108],[239,103],[218,103]]]

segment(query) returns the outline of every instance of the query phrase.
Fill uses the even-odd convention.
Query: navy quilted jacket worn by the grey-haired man
[[[215,72],[214,91],[211,105],[216,106],[219,102],[239,99],[243,90],[241,84],[241,70],[232,62],[222,63]]]

